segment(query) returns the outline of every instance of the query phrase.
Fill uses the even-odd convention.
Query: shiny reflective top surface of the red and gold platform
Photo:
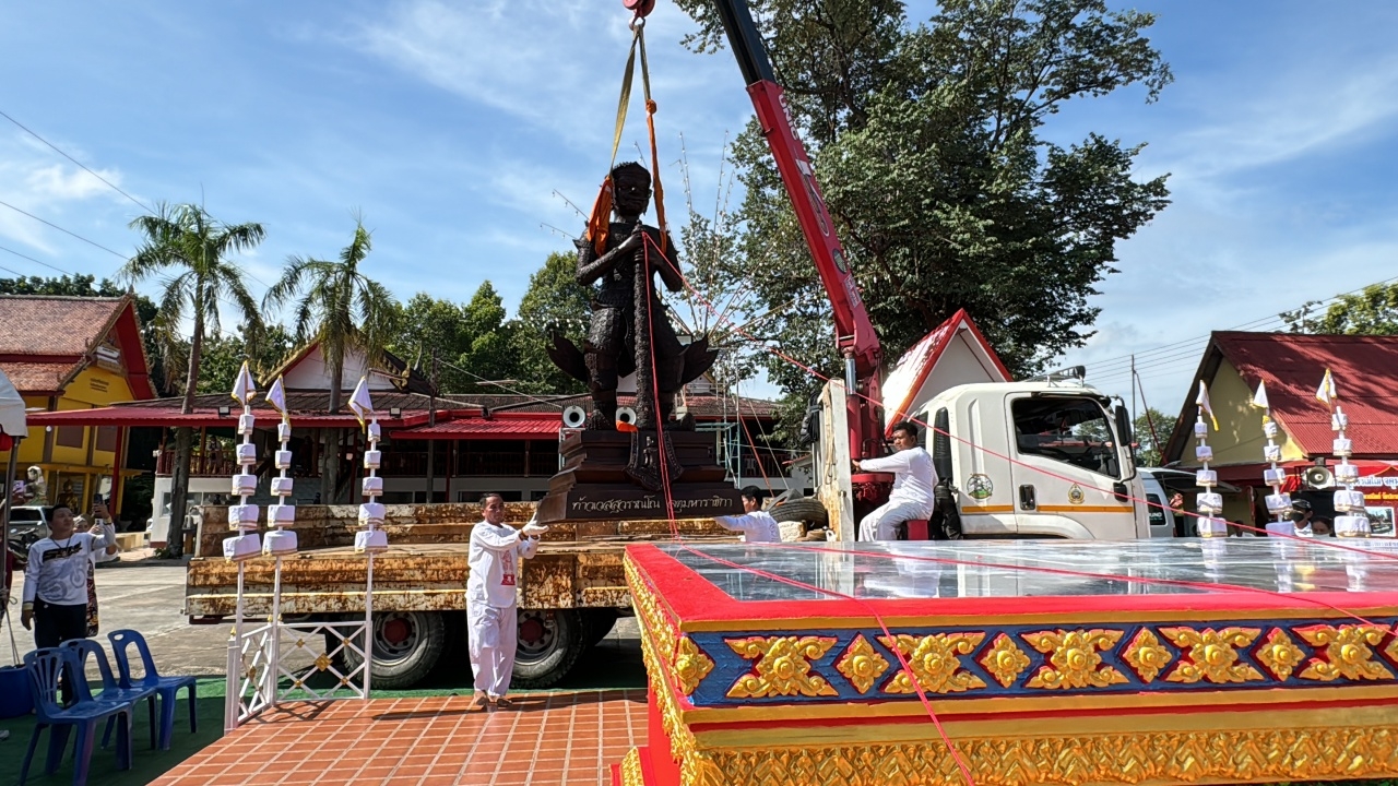
[[[738,601],[1398,592],[1390,538],[657,545]]]

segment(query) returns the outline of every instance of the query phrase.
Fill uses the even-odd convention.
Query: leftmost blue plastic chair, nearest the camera
[[[20,766],[20,786],[24,786],[29,778],[29,764],[34,761],[34,751],[39,747],[39,734],[49,729],[49,755],[43,762],[43,773],[52,775],[63,762],[63,751],[69,747],[69,729],[73,727],[78,731],[73,754],[73,786],[84,786],[92,764],[96,724],[108,719],[115,719],[117,723],[116,766],[117,769],[131,769],[131,705],[78,701],[64,708],[59,703],[59,677],[67,671],[67,678],[74,685],[82,680],[81,674],[73,673],[74,660],[73,656],[57,648],[36,649],[24,656],[38,723],[34,724],[29,750],[24,754],[24,764]]]

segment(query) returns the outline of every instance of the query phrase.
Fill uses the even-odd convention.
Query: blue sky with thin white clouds
[[[1398,6],[1137,7],[1160,15],[1151,35],[1176,83],[1155,105],[1139,90],[1071,103],[1046,133],[1149,143],[1141,175],[1170,172],[1173,204],[1118,246],[1099,334],[1064,362],[1130,396],[1121,358],[1142,352],[1146,399],[1173,411],[1209,330],[1274,327],[1279,310],[1398,276]],[[513,306],[570,248],[545,225],[580,229],[555,192],[584,208],[596,194],[625,24],[614,0],[13,3],[0,110],[140,201],[263,222],[245,259],[259,292],[288,255],[337,253],[359,211],[366,271],[398,296],[464,301],[489,278]],[[661,0],[647,36],[675,215],[679,134],[712,206],[724,141],[752,110],[727,53],[678,45],[689,29]],[[632,119],[622,155],[644,144],[639,106]],[[0,200],[122,255],[137,242],[136,204],[4,119]],[[122,262],[6,207],[0,246],[99,277]],[[0,267],[55,274],[7,252]]]

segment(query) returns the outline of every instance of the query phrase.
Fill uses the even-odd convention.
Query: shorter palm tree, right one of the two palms
[[[338,262],[292,256],[281,280],[267,290],[263,308],[280,308],[298,292],[295,334],[298,343],[316,341],[330,368],[331,414],[340,411],[344,390],[345,352],[363,351],[373,362],[391,334],[397,301],[389,290],[359,273],[359,264],[373,248],[363,221],[355,221],[354,239],[341,249]],[[320,487],[327,505],[334,503],[340,485],[340,429],[322,431]]]

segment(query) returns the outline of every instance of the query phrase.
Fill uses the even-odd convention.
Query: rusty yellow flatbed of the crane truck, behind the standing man
[[[506,520],[523,524],[533,505],[506,505]],[[282,558],[282,620],[331,621],[362,617],[365,555],[354,551],[358,508],[305,505],[295,531],[302,550]],[[373,565],[373,683],[408,687],[438,667],[466,662],[466,580],[471,527],[480,505],[390,505],[390,548]],[[679,534],[700,543],[735,538],[712,519],[685,519]],[[185,582],[185,614],[194,624],[231,620],[238,603],[238,565],[222,557],[226,510],[203,513],[196,557]],[[521,687],[562,680],[601,641],[619,615],[630,614],[624,569],[626,544],[670,540],[668,522],[563,522],[554,524],[533,559],[523,561],[519,587],[520,643],[514,678]],[[274,561],[245,564],[243,614],[271,614]],[[352,657],[352,653],[351,653]]]

